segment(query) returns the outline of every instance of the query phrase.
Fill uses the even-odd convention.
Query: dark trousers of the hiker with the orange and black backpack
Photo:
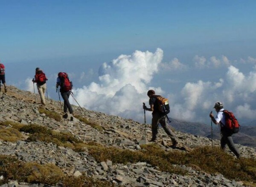
[[[161,124],[161,126],[163,127],[164,131],[166,132],[166,134],[172,139],[172,143],[177,142],[177,138],[175,136],[175,134],[172,132],[171,128],[169,127],[168,123],[167,123],[167,118],[166,116],[161,116],[159,113],[154,113],[153,117],[152,117],[152,140],[157,139],[157,127],[158,127],[158,123]]]

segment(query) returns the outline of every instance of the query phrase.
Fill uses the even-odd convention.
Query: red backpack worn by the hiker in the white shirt
[[[238,133],[239,132],[239,122],[237,121],[236,117],[232,112],[229,112],[227,110],[222,111],[225,115],[225,125],[224,128],[230,130],[232,133]]]

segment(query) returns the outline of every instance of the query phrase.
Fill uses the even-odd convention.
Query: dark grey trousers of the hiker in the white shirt
[[[221,130],[221,149],[226,149],[226,144],[230,150],[236,155],[237,158],[240,157],[239,150],[235,147],[235,144],[232,139],[232,133],[227,130]]]

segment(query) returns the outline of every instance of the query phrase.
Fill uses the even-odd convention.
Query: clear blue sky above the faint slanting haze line
[[[17,62],[250,42],[255,8],[255,1],[1,0],[1,58]]]

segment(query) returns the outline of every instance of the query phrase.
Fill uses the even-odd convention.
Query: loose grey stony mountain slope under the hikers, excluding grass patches
[[[102,150],[109,148],[111,150],[124,150],[125,153],[133,154],[140,153],[144,150],[143,144],[151,145],[145,141],[151,138],[150,125],[143,125],[134,122],[131,119],[122,119],[118,116],[110,116],[104,113],[89,111],[86,109],[74,107],[74,116],[68,115],[67,118],[56,118],[49,114],[55,113],[62,116],[64,113],[60,110],[58,101],[52,99],[47,100],[46,107],[38,104],[39,96],[28,91],[19,90],[13,86],[8,87],[7,93],[0,93],[0,123],[2,131],[0,131],[0,139],[8,136],[9,139],[0,140],[0,153],[3,156],[14,156],[25,163],[35,162],[38,164],[53,164],[61,169],[67,176],[79,177],[88,176],[98,181],[108,181],[110,185],[123,186],[244,186],[243,181],[229,180],[221,173],[211,173],[200,169],[200,166],[187,164],[172,164],[175,170],[183,172],[168,172],[168,168],[160,170],[159,167],[149,163],[147,159],[138,159],[138,161],[128,161],[117,163],[118,161],[105,160],[99,161],[97,154],[93,155],[91,147],[85,147],[80,151],[74,148],[76,145],[90,143],[94,146],[100,145]],[[86,119],[86,120],[85,120]],[[173,120],[173,119],[172,119]],[[32,130],[24,130],[29,125],[39,125],[44,127],[43,131],[49,130],[51,134],[68,133],[72,135],[73,140],[58,144],[54,138],[47,139],[38,138],[41,132],[32,132]],[[17,137],[9,133],[15,128],[20,130]],[[54,133],[53,133],[54,132]],[[14,134],[15,134],[14,133]],[[31,134],[34,133],[33,136]],[[212,142],[207,137],[195,136],[188,133],[175,131],[179,139],[177,148],[172,148],[170,139],[159,129],[158,142],[155,144],[160,147],[165,153],[183,154],[190,153],[196,147],[211,146]],[[15,139],[16,138],[16,139]],[[51,142],[52,141],[52,142]],[[219,146],[219,140],[213,140],[214,146]],[[73,147],[72,147],[73,146]],[[241,155],[246,158],[255,158],[256,148],[246,147],[241,144],[236,144],[241,152]],[[230,153],[229,150],[227,152]],[[119,157],[125,157],[124,152]],[[98,155],[101,152],[98,153]],[[108,154],[108,151],[105,153]],[[144,158],[144,157],[143,157]],[[129,159],[129,157],[128,157]],[[157,161],[156,161],[157,162]],[[3,164],[0,163],[0,167]],[[6,168],[6,167],[5,167]],[[8,169],[8,168],[7,168]],[[185,173],[185,174],[183,174]],[[0,181],[3,181],[7,176],[1,174]],[[256,180],[253,178],[252,180]],[[28,183],[30,181],[30,183]],[[74,179],[76,181],[76,179]],[[2,183],[3,184],[3,183]],[[64,183],[51,184],[52,186],[65,186]],[[16,178],[9,180],[3,187],[22,186],[22,187],[39,187],[49,186],[38,184],[33,180],[19,181]],[[74,185],[75,186],[75,185]],[[86,185],[84,185],[86,186]]]

